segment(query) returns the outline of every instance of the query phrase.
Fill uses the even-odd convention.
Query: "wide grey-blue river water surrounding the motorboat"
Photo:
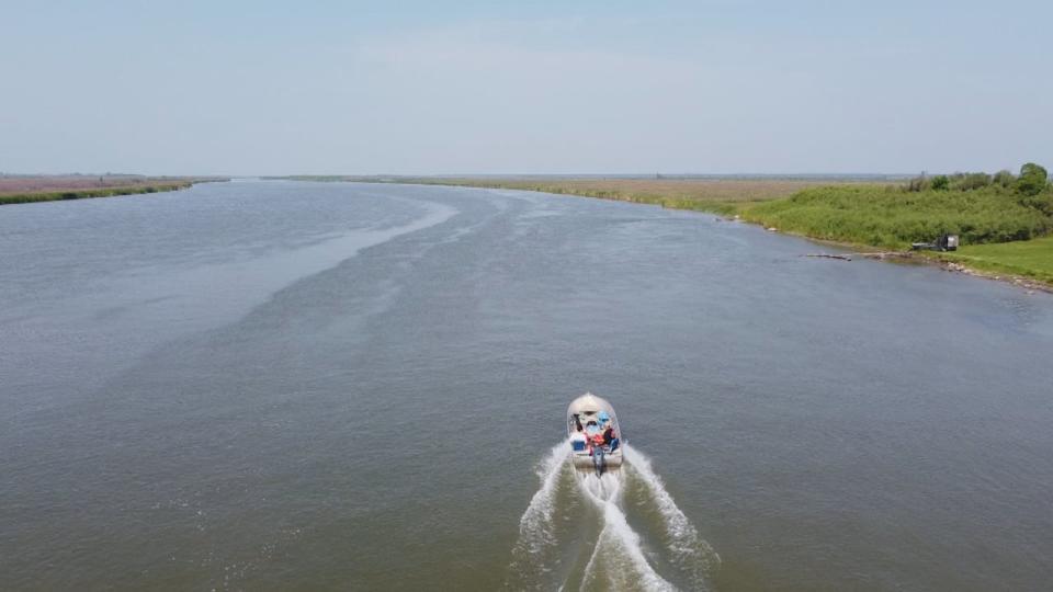
[[[0,207],[0,588],[1049,589],[1053,298],[818,250],[448,187]]]

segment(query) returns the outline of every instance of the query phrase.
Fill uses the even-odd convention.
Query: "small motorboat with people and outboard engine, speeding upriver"
[[[613,432],[607,434],[608,428]],[[571,401],[567,407],[567,437],[575,468],[602,475],[622,466],[622,426],[607,399],[586,392]]]

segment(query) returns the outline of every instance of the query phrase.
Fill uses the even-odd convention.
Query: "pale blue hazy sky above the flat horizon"
[[[0,171],[1053,164],[1053,2],[0,0]]]

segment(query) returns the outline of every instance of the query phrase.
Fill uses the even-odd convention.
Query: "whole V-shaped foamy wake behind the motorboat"
[[[720,557],[677,506],[650,459],[626,446],[602,477],[561,442],[537,466],[507,590],[707,590]]]

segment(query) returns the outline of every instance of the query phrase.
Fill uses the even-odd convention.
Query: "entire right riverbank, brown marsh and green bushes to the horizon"
[[[912,257],[1053,287],[1053,185],[1045,169],[890,180],[829,178],[293,177],[539,191],[709,212],[859,251],[909,252],[947,232],[955,252]],[[1029,283],[1029,285],[1031,285]]]

